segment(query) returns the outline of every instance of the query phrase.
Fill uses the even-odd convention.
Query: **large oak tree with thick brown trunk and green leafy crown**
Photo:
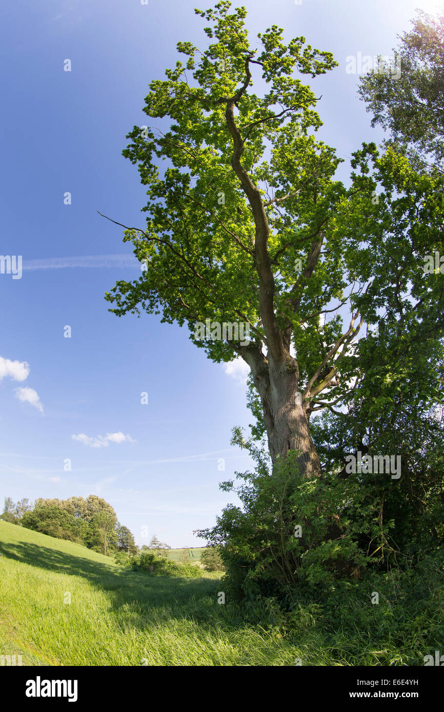
[[[422,266],[440,242],[443,180],[420,179],[393,147],[380,156],[373,144],[353,154],[349,187],[334,180],[341,159],[316,140],[320,97],[302,82],[332,70],[331,53],[304,37],[285,44],[277,26],[251,46],[245,9],[230,6],[196,11],[212,42],[178,43],[185,65],[145,98],[160,122],[128,135],[123,155],[148,202],[145,228],[124,239],[146,270],[107,299],[119,316],[187,323],[215,362],[247,362],[272,461],[297,451],[302,476],[316,476],[311,414],[377,368],[384,337],[368,325],[383,315],[400,344],[411,330],[430,339],[432,324],[442,334],[443,281]],[[248,324],[250,342],[199,338],[207,319]],[[405,362],[398,370],[408,377]]]

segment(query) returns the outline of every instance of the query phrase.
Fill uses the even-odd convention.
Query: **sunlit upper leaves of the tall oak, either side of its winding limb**
[[[299,192],[297,200],[292,197],[286,203],[282,217],[273,205],[265,208],[272,226],[270,258],[276,260],[281,274],[277,297],[286,286],[294,286],[295,260],[306,262],[311,228],[322,221],[322,207],[328,210],[341,193],[340,187],[331,184],[340,159],[308,135],[309,130],[321,126],[313,109],[316,95],[294,77],[300,73],[314,78],[331,70],[336,66],[331,53],[306,45],[304,37],[285,46],[283,30],[277,26],[258,36],[258,51],[250,50],[244,26],[246,11],[237,8],[230,14],[229,7],[229,2],[220,2],[214,10],[196,11],[212,24],[205,33],[215,38],[215,43],[203,52],[190,42],[177,43],[178,52],[187,57],[186,65],[177,61],[174,69],[166,70],[166,80],[150,83],[144,111],[156,120],[167,116],[170,127],[165,133],[153,127],[145,131],[134,127],[128,135],[132,142],[123,151],[139,165],[141,182],[148,187],[148,204],[143,208],[146,229],[126,230],[125,241],[133,241],[135,255],[148,261],[149,268],[138,281],[118,281],[106,295],[115,303],[117,315],[146,310],[162,313],[162,321],[167,323],[187,322],[191,340],[218,362],[232,360],[239,345],[233,348],[223,341],[197,339],[196,321],[232,322],[235,318],[246,320],[247,315],[254,334],[264,336],[264,329],[257,325],[254,219],[242,185],[230,168],[233,145],[224,105],[224,97],[234,95],[244,84],[247,60],[254,69],[254,65],[262,67],[267,90],[262,96],[246,91],[236,103],[239,125],[245,132],[244,167],[260,186],[265,202],[270,197],[266,191],[282,199]],[[187,71],[192,72],[191,81]],[[278,116],[274,114],[276,105],[282,107]],[[268,144],[272,146],[269,160]],[[160,158],[167,160],[164,171],[157,165]],[[296,225],[300,229],[295,229]],[[286,244],[291,247],[278,263],[277,253]],[[312,300],[321,293],[324,277],[339,276],[336,256],[327,260],[329,265],[322,268],[322,276],[307,295],[308,310],[314,310]],[[282,295],[279,306],[284,302]]]

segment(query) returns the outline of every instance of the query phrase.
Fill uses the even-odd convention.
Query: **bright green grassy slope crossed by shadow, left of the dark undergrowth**
[[[217,604],[219,574],[147,577],[1,520],[0,550],[0,655],[24,665],[292,665],[298,654]]]

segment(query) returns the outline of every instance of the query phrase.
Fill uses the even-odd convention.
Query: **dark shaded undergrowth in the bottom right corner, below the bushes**
[[[257,596],[244,610],[250,623],[283,637],[298,631],[301,640],[312,632],[312,646],[328,641],[340,665],[365,660],[371,666],[420,666],[443,635],[443,571],[438,548],[419,553],[404,570],[371,571],[364,580],[336,581],[329,589],[297,590],[286,609],[278,597]]]

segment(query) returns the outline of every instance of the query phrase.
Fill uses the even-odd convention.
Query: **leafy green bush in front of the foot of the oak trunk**
[[[197,532],[217,547],[224,562],[227,587],[235,598],[276,598],[291,607],[301,590],[315,595],[319,586],[360,577],[373,565],[367,554],[387,546],[378,522],[378,501],[357,476],[346,480],[323,476],[302,479],[296,452],[269,463],[252,448],[258,467],[238,474],[244,483],[222,483],[236,491],[243,508],[227,506],[211,530]]]

